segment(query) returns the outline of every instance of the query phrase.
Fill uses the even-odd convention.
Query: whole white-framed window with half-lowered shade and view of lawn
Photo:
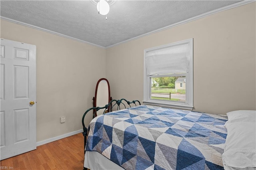
[[[143,103],[193,109],[193,39],[144,50]]]

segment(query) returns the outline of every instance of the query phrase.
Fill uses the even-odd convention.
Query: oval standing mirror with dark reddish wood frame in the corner
[[[93,107],[104,107],[111,101],[110,86],[107,79],[99,79],[96,85],[95,97],[93,98]],[[109,112],[109,108],[107,110]],[[102,113],[99,113],[102,115]],[[95,113],[95,117],[97,113]]]

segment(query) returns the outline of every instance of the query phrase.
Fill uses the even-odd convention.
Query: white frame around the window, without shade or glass
[[[172,47],[174,45],[183,45],[188,44],[188,73],[183,74],[168,74],[168,75],[150,75],[147,76],[146,70],[146,53],[148,51]],[[151,94],[151,77],[178,77],[178,76],[186,76],[186,102],[181,103],[177,101],[164,101],[164,100],[156,100],[150,99]],[[160,45],[158,47],[152,47],[148,49],[144,49],[144,88],[143,88],[143,103],[146,105],[157,105],[162,107],[173,107],[178,109],[188,109],[193,110],[193,38],[188,40],[183,40],[180,42],[169,43],[166,45]]]

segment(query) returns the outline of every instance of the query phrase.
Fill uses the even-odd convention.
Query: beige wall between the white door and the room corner
[[[4,20],[1,38],[36,45],[37,141],[82,129],[96,83],[106,76],[106,50]]]

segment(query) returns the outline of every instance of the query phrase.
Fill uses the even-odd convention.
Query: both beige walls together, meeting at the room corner
[[[37,141],[81,129],[81,117],[92,106],[102,77],[109,80],[114,99],[142,101],[144,49],[189,38],[194,38],[195,110],[256,109],[255,6],[250,3],[106,50],[1,20],[1,38],[36,45]],[[86,119],[88,125],[91,117]]]

